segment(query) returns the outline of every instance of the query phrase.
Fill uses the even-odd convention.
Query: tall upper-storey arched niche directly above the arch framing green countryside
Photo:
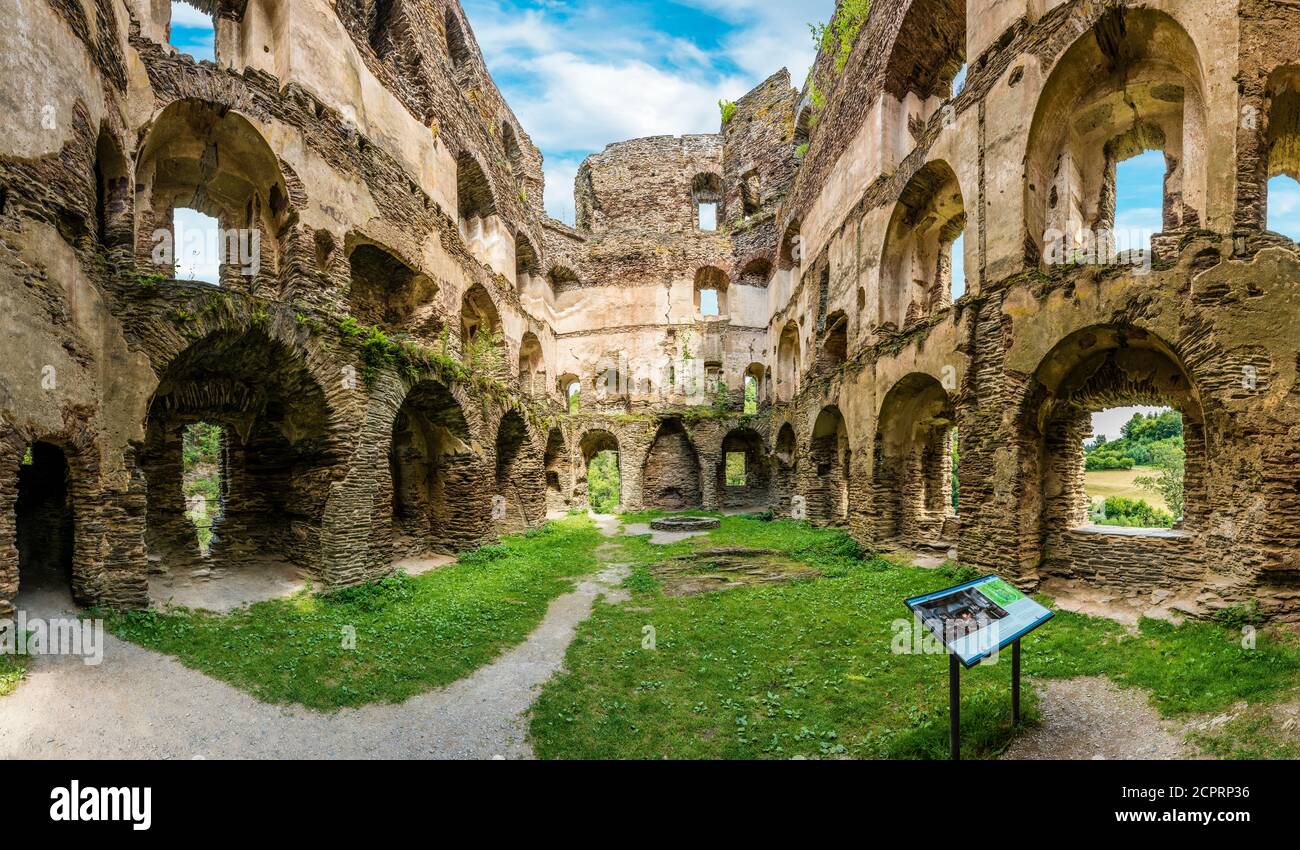
[[[1106,9],[1039,96],[1024,168],[1027,260],[1061,261],[1109,231],[1115,166],[1147,149],[1165,153],[1165,234],[1204,225],[1206,134],[1204,65],[1182,25],[1154,9]]]

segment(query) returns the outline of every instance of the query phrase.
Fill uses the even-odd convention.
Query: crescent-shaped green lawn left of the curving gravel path
[[[597,567],[601,539],[588,517],[571,516],[416,577],[303,591],[228,615],[109,615],[107,625],[265,702],[321,710],[400,702],[520,643],[550,600]],[[347,628],[355,649],[344,645]]]

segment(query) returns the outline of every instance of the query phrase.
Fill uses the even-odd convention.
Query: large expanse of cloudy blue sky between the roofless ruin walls
[[[710,52],[653,29],[644,0],[551,4],[467,0],[474,36],[497,84],[547,155],[546,209],[573,220],[582,156],[649,135],[716,133],[718,101],[734,100],[789,65],[796,86],[812,61],[807,22],[835,0],[680,0],[732,30]],[[824,6],[824,8],[822,8]]]

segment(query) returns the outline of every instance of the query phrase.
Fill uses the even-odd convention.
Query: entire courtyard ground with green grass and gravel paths
[[[116,617],[104,664],[36,658],[0,698],[0,756],[946,756],[946,663],[896,649],[902,599],[968,571],[755,516],[667,545],[627,533],[649,519],[564,517],[342,595]],[[1286,629],[1251,647],[1240,623],[1061,611],[1024,641],[1020,728],[1006,662],[963,675],[967,758],[1288,758],[1300,741]]]

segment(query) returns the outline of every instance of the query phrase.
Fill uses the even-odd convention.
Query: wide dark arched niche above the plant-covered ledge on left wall
[[[347,307],[365,325],[437,339],[445,326],[434,298],[438,286],[396,253],[350,235]]]

